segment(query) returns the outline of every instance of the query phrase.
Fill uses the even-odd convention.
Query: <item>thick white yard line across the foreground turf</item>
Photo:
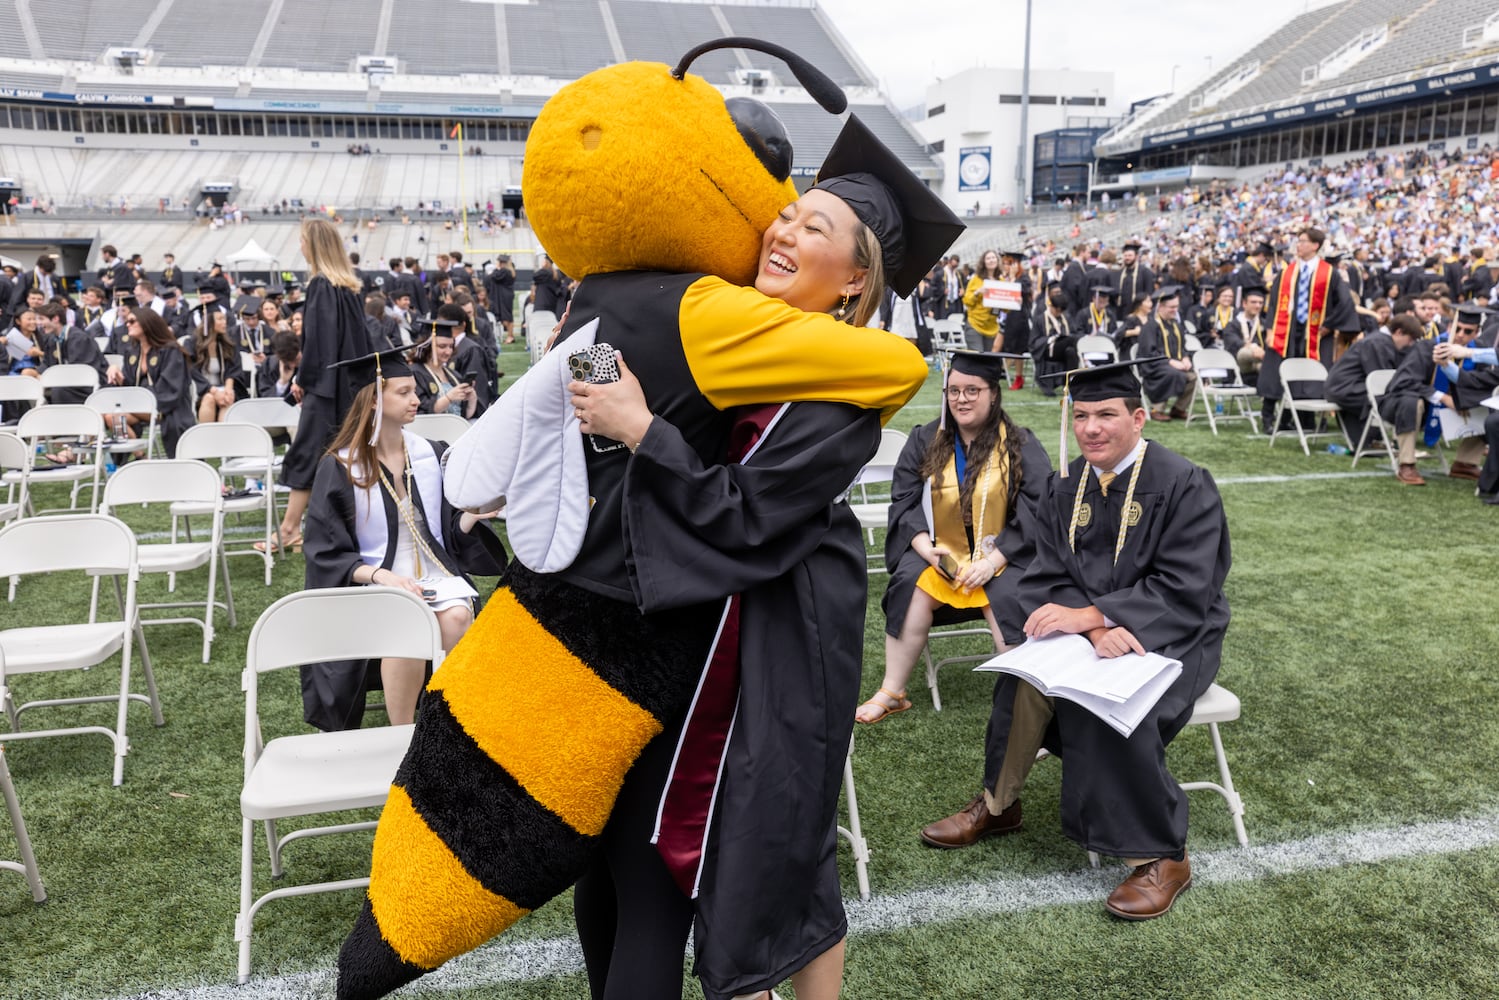
[[[1328,871],[1348,865],[1453,855],[1499,844],[1499,814],[1385,829],[1321,834],[1279,844],[1225,847],[1192,856],[1196,885],[1231,885],[1306,871]],[[1079,864],[1085,864],[1078,852]],[[1115,867],[1016,879],[992,879],[931,889],[914,889],[868,903],[850,900],[851,934],[881,934],[901,928],[950,921],[1024,913],[1048,906],[1099,904],[1120,880]],[[228,933],[228,931],[226,931]],[[264,945],[262,945],[264,948]],[[331,966],[331,957],[330,957]],[[501,939],[477,952],[456,958],[424,976],[399,996],[445,994],[507,982],[526,982],[576,973],[583,969],[577,940],[571,937]],[[232,972],[226,970],[226,976]],[[153,988],[129,1000],[303,1000],[333,994],[333,970],[252,979],[249,985],[214,984]]]

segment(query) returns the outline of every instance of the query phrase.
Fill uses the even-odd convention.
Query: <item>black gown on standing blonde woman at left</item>
[[[279,481],[292,489],[312,486],[318,460],[354,403],[349,370],[336,361],[364,357],[372,351],[364,309],[348,288],[336,288],[324,276],[307,282],[307,304],[301,313],[301,418],[297,436],[286,448]]]

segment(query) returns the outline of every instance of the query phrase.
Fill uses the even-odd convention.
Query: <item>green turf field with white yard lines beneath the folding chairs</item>
[[[523,366],[523,354],[502,355],[511,375]],[[1033,388],[1006,399],[1055,454],[1057,406]],[[892,426],[925,423],[935,405],[929,384]],[[914,711],[857,733],[874,900],[857,903],[844,850],[854,925],[845,994],[1499,996],[1499,777],[1490,771],[1499,757],[1499,510],[1435,462],[1423,466],[1430,486],[1411,489],[1390,475],[1349,478],[1349,459],[1303,456],[1294,439],[1271,450],[1243,424],[1219,438],[1204,421],[1151,424],[1147,435],[1210,468],[1228,508],[1234,624],[1219,679],[1244,705],[1223,738],[1250,850],[1237,846],[1222,801],[1193,793],[1199,885],[1165,919],[1112,921],[1102,898],[1121,871],[1105,862],[1091,873],[1061,837],[1055,760],[1033,772],[1022,832],[962,852],[925,849],[916,831],[977,790],[992,681],[946,670],[938,714],[917,676]],[[160,517],[132,520],[165,528]],[[300,588],[301,558],[280,561],[271,588],[256,561],[232,559],[231,571],[240,618],[229,628],[220,616],[213,663],[199,663],[196,630],[148,630],[166,726],[132,708],[121,789],[109,786],[100,736],[7,747],[49,903],[33,906],[22,879],[0,873],[0,999],[231,996],[240,667],[259,610]],[[181,577],[178,594],[201,594],[204,576]],[[881,588],[883,577],[871,577],[866,691],[883,667]],[[151,579],[142,600],[162,591]],[[81,576],[22,580],[16,603],[0,603],[0,624],[75,621],[85,609]],[[982,645],[947,640],[940,651]],[[64,696],[108,688],[111,673],[19,678],[15,690],[22,700]],[[262,691],[267,736],[277,724],[301,732],[295,672]],[[79,717],[108,724],[112,708],[39,709],[25,724]],[[1213,777],[1202,729],[1189,729],[1171,759],[1183,780]],[[0,858],[16,858],[4,820]],[[367,837],[301,841],[286,855],[295,880],[360,876],[367,861]],[[262,892],[270,877],[259,871]],[[270,904],[255,925],[255,981],[232,996],[331,996],[327,970],[358,903],[346,892]],[[586,996],[570,934],[564,898],[409,994]],[[702,994],[688,981],[684,996]]]

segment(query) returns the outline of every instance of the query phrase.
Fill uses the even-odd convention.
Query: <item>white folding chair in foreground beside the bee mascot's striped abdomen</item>
[[[390,795],[412,726],[382,726],[336,733],[261,735],[262,673],[330,660],[406,657],[442,663],[442,633],[432,609],[408,591],[348,586],[289,594],[261,615],[250,631],[244,688],[244,790],[240,793],[240,984],[250,978],[250,930],[255,913],[285,897],[358,889],[369,879],[342,879],[271,889],[253,897],[255,825],[265,825],[271,876],[282,876],[282,849],[303,837],[367,831],[375,822],[300,829],[277,838],[276,820],[378,808]],[[367,871],[367,865],[361,865]]]

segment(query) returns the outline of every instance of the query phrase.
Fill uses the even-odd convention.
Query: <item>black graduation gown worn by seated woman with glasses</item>
[[[911,606],[911,594],[916,591],[916,579],[931,565],[911,549],[911,538],[928,529],[926,514],[922,510],[925,483],[920,468],[922,456],[926,454],[926,447],[935,433],[935,420],[911,430],[890,478],[889,531],[884,535],[884,568],[890,582],[880,606],[884,609],[884,633],[895,639],[901,637],[905,610]],[[983,594],[989,598],[994,621],[998,622],[1006,645],[1025,642],[1025,613],[1019,604],[1019,580],[1036,552],[1036,504],[1040,502],[1046,477],[1051,475],[1051,459],[1040,447],[1040,441],[1028,429],[1022,427],[1021,433],[1024,441],[1021,442],[1019,490],[1015,502],[1010,504],[1004,529],[995,538],[995,546],[1004,553],[1009,565],[983,585]],[[934,621],[938,625],[949,625],[970,621],[976,615],[971,610],[938,607]]]

